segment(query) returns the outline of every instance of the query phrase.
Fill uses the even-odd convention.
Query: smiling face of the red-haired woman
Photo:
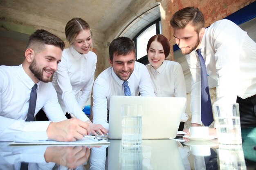
[[[159,68],[165,59],[164,48],[160,42],[157,40],[150,44],[148,49],[148,61],[151,66],[155,69]]]

